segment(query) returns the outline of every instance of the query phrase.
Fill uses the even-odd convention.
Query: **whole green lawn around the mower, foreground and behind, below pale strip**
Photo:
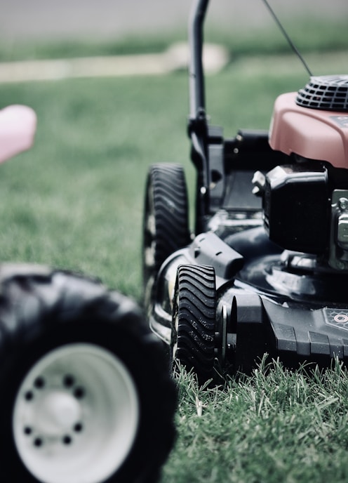
[[[348,71],[339,52],[306,58],[317,74]],[[208,113],[227,137],[267,128],[276,95],[307,78],[293,56],[237,56],[207,79]],[[141,300],[147,168],[180,162],[193,185],[187,74],[1,85],[0,107],[14,102],[34,107],[39,124],[34,148],[1,166],[2,260],[79,270]],[[178,387],[163,483],[347,482],[348,377],[338,364],[312,377],[261,365],[210,390],[181,371]]]

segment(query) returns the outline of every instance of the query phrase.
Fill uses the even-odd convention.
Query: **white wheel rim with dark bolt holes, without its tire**
[[[138,394],[121,360],[97,345],[69,344],[25,376],[13,411],[15,445],[43,483],[101,483],[135,440]]]

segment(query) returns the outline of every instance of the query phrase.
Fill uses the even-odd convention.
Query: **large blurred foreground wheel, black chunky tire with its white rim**
[[[138,306],[31,265],[1,265],[0,293],[1,477],[154,481],[173,444],[176,394]]]

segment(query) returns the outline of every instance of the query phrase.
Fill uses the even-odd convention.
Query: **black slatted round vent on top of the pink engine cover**
[[[311,77],[296,104],[324,111],[348,112],[348,75]]]

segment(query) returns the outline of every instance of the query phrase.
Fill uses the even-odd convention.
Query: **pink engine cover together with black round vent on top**
[[[348,168],[348,76],[312,77],[280,95],[269,133],[273,150]]]

